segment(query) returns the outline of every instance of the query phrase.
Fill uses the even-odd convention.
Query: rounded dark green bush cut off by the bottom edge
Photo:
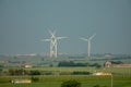
[[[61,87],[81,87],[81,83],[76,80],[67,80],[61,84]]]

